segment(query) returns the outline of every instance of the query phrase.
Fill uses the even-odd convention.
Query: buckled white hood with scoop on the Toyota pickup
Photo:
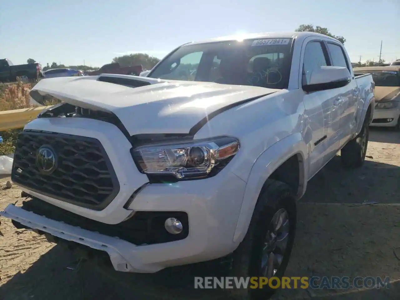
[[[188,133],[210,114],[278,91],[256,86],[102,74],[42,79],[30,95],[39,103],[43,103],[41,97],[50,95],[74,106],[112,112],[129,134],[134,135]]]

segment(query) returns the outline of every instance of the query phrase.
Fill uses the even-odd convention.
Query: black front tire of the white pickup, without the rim
[[[282,209],[286,210],[288,215],[288,239],[282,262],[273,275],[274,277],[282,278],[289,262],[296,232],[296,202],[289,186],[270,179],[266,181],[258,197],[258,202],[254,208],[246,236],[233,253],[229,276],[243,276],[245,278],[265,276],[265,274],[262,274],[261,267],[262,250],[267,240],[268,227],[272,224],[274,215]],[[276,289],[272,289],[266,285],[262,289],[244,290],[243,288],[234,288],[229,289],[229,292],[232,296],[239,298],[248,297],[252,300],[265,300],[272,296],[276,292]]]

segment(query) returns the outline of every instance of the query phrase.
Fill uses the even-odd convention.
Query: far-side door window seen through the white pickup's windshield
[[[169,66],[171,71],[160,78],[194,81],[202,55],[203,52],[192,52],[182,57],[180,62],[172,62]]]

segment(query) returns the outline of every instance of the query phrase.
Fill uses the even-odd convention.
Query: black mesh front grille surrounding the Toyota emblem
[[[52,149],[57,158],[51,174],[40,172],[36,165],[42,146]],[[100,141],[28,130],[18,136],[12,180],[39,194],[94,210],[104,209],[120,189]]]

